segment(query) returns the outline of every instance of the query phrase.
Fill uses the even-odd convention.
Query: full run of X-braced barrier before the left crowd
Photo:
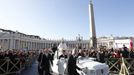
[[[31,66],[33,58],[26,58],[22,61],[20,58],[10,58],[0,59],[0,75],[7,74],[19,74],[23,69]]]

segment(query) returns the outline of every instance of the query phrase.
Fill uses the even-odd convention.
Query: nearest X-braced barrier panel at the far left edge
[[[14,60],[9,58],[0,60],[0,75],[20,73],[21,68],[21,62],[18,58],[15,58]]]

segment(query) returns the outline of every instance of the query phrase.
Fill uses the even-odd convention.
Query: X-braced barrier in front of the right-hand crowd
[[[125,64],[129,74],[134,75],[134,59],[133,58],[107,58],[106,63],[109,65],[109,71],[111,73],[119,74],[122,63]]]

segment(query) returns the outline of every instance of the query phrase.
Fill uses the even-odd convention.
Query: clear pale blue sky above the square
[[[97,36],[134,36],[134,0],[93,0]],[[89,0],[0,0],[0,28],[89,39]]]

